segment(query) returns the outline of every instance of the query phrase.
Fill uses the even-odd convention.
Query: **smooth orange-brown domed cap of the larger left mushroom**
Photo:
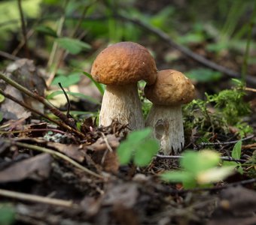
[[[93,79],[105,85],[127,85],[145,80],[153,84],[157,66],[144,46],[133,42],[120,42],[102,50],[93,62]]]

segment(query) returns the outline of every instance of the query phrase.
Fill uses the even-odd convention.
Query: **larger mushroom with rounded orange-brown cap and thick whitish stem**
[[[157,77],[154,58],[144,46],[120,42],[108,46],[96,57],[91,69],[93,79],[106,85],[99,113],[99,125],[113,120],[129,124],[131,130],[145,127],[139,101],[139,80],[152,85]]]

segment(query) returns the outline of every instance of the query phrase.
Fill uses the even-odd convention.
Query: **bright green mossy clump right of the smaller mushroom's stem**
[[[205,101],[197,99],[184,107],[184,119],[187,121],[185,128],[191,130],[200,127],[200,133],[207,135],[216,130],[227,134],[230,126],[233,126],[240,137],[245,136],[252,129],[243,121],[245,115],[250,113],[248,103],[243,100],[244,96],[245,91],[240,82],[233,89],[223,90],[215,95],[206,93]]]

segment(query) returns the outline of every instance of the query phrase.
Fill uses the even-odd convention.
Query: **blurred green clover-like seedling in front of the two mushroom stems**
[[[145,128],[128,134],[126,140],[117,148],[121,165],[126,165],[131,160],[136,166],[147,166],[151,162],[159,150],[158,142],[151,137],[151,133],[151,128]]]

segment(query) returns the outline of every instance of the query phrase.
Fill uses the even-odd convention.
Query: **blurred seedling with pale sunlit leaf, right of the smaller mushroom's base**
[[[219,163],[216,151],[185,151],[180,160],[181,171],[168,171],[160,176],[164,181],[181,182],[185,189],[210,187],[234,171],[234,166],[218,167]]]

